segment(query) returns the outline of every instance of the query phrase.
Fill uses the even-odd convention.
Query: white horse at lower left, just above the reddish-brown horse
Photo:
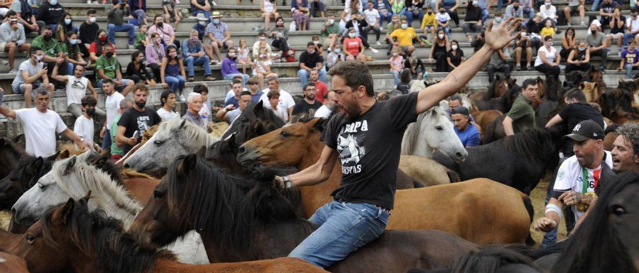
[[[131,198],[128,191],[116,181],[112,181],[109,174],[83,161],[89,152],[56,161],[51,171],[13,205],[16,221],[34,223],[50,208],[57,207],[69,198],[82,198],[91,191],[89,210],[104,210],[107,216],[121,220],[125,229],[128,229],[142,210],[142,204]],[[209,263],[202,239],[195,231],[187,233],[167,248],[176,253],[183,263]]]

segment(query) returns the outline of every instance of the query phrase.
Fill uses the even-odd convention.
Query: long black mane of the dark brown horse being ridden
[[[187,160],[194,166],[185,176],[181,170]],[[253,173],[254,180],[237,179],[203,158],[180,156],[166,175],[169,214],[215,234],[215,247],[239,256],[263,225],[297,219],[289,200],[272,188],[273,172],[257,168]]]

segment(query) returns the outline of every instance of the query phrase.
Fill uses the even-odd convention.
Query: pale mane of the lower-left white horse
[[[68,170],[68,161],[75,161],[73,163],[72,170]],[[108,173],[95,168],[95,166],[89,165],[89,163],[79,161],[75,156],[71,158],[61,159],[56,161],[51,168],[54,180],[56,184],[68,195],[73,198],[80,198],[82,196],[73,196],[72,191],[66,185],[63,176],[65,172],[75,172],[79,183],[84,190],[91,191],[95,196],[109,196],[110,198],[91,198],[98,203],[98,207],[104,208],[107,205],[119,207],[127,210],[131,214],[137,214],[142,210],[142,205],[135,201],[128,193],[126,189],[116,181],[111,180],[111,176]],[[104,203],[105,200],[111,200],[109,204]]]

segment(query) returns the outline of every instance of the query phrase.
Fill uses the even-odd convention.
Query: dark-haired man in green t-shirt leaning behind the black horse
[[[528,128],[535,128],[535,110],[532,101],[537,97],[537,81],[528,78],[521,84],[521,94],[512,103],[511,110],[506,113],[504,132],[507,136],[514,135]]]

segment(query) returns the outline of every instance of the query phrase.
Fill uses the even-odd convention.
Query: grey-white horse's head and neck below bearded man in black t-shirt
[[[138,172],[150,173],[168,168],[178,156],[194,154],[218,140],[193,122],[173,119],[160,124],[158,131],[125,160],[124,165]]]

